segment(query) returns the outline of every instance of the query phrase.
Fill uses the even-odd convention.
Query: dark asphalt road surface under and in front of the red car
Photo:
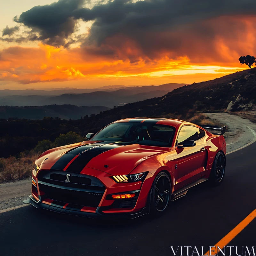
[[[190,189],[161,218],[99,221],[31,205],[2,213],[0,255],[170,256],[171,246],[204,246],[206,252],[256,208],[255,152],[256,142],[228,154],[220,187],[206,181]],[[256,249],[255,230],[256,219],[228,245]]]

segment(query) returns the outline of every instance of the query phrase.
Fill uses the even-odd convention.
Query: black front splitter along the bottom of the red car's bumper
[[[85,212],[81,210],[77,210],[74,208],[63,208],[60,205],[57,204],[46,204],[43,202],[37,202],[35,198],[30,195],[29,199],[24,200],[23,203],[25,204],[32,204],[36,208],[42,208],[46,209],[52,212],[59,212],[59,213],[64,213],[64,214],[70,214],[70,215],[76,215],[76,216],[83,216],[87,218],[92,218],[92,219],[101,219],[101,218],[114,218],[114,219],[134,219],[139,216],[145,215],[149,212],[148,207],[142,208],[139,212],[120,212],[120,213],[104,213],[104,207],[98,206],[95,212]]]

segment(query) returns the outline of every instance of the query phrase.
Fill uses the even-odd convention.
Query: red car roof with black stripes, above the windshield
[[[165,124],[170,126],[177,126],[181,125],[182,123],[187,123],[185,121],[179,119],[172,119],[172,118],[157,118],[157,117],[132,117],[132,118],[125,118],[121,120],[117,120],[113,123],[127,123],[127,122],[134,122],[134,123],[144,123],[145,124]]]

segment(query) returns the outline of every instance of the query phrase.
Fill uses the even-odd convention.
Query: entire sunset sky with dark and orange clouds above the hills
[[[194,83],[256,54],[255,0],[0,2],[0,89]]]

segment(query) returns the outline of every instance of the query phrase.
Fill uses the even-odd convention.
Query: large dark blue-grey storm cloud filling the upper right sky
[[[149,0],[133,3],[114,0],[88,9],[73,12],[76,19],[95,20],[89,39],[101,43],[118,33],[138,38],[144,31],[164,31],[180,24],[210,19],[221,15],[254,14],[254,0]],[[88,14],[89,13],[89,14]]]

